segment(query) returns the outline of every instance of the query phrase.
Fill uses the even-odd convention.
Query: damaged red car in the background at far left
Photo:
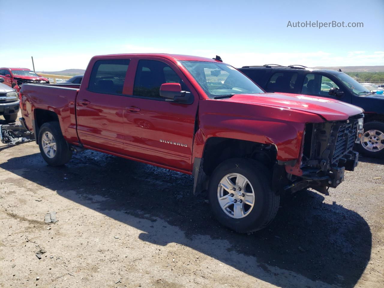
[[[49,80],[41,77],[28,68],[0,68],[0,77],[4,78],[4,84],[20,91],[22,84],[45,83],[49,84]]]

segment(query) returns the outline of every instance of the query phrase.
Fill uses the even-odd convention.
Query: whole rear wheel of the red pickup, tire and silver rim
[[[40,127],[39,148],[45,162],[51,166],[61,166],[72,158],[72,151],[61,133],[58,122],[46,122]]]

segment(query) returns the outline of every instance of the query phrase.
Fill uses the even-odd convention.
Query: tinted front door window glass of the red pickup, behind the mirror
[[[160,86],[163,83],[180,83],[182,89],[187,90],[180,77],[166,63],[139,60],[133,87],[134,96],[162,99]]]

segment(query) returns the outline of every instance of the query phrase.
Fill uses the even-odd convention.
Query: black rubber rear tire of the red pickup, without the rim
[[[43,135],[45,132],[50,132],[55,139],[56,153],[53,158],[48,157],[43,150]],[[46,122],[41,125],[38,136],[39,148],[41,156],[45,162],[51,166],[61,166],[68,163],[72,158],[72,151],[68,142],[65,141],[61,133],[60,124],[58,122]]]

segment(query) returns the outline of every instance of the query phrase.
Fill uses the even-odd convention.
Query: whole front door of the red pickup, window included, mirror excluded
[[[133,62],[132,62],[133,63]],[[133,64],[132,64],[133,65]],[[171,61],[161,57],[137,58],[131,97],[124,109],[124,138],[131,155],[146,161],[190,171],[198,94]],[[163,83],[180,83],[194,96],[192,104],[161,98]]]

